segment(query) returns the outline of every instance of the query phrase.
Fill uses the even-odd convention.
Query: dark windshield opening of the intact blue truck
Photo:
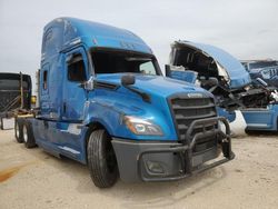
[[[142,73],[161,74],[156,59],[149,54],[138,54],[120,51],[91,52],[95,73]]]

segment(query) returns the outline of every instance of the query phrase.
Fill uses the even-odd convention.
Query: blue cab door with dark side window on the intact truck
[[[64,66],[62,120],[81,122],[87,101],[83,82],[88,79],[88,58],[85,49],[79,47],[66,53]]]

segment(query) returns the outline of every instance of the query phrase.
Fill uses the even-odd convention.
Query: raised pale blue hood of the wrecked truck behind
[[[214,58],[227,72],[230,79],[230,89],[241,88],[251,82],[249,73],[235,57],[228,52],[209,44],[195,43],[189,41],[178,41],[177,43],[188,46]]]

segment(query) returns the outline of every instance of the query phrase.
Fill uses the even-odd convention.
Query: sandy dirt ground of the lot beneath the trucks
[[[0,209],[277,208],[278,135],[236,138],[231,162],[196,177],[98,189],[86,166],[26,149],[0,130]]]

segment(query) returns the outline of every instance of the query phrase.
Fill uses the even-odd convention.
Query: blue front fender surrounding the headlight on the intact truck
[[[142,101],[141,97],[125,88],[117,92],[96,90],[89,97],[95,98],[86,109],[86,123],[98,121],[111,136],[133,140],[177,140],[171,120],[170,109],[165,97],[151,97],[151,103]],[[137,116],[153,121],[160,126],[165,135],[136,136],[122,122],[122,116]]]

